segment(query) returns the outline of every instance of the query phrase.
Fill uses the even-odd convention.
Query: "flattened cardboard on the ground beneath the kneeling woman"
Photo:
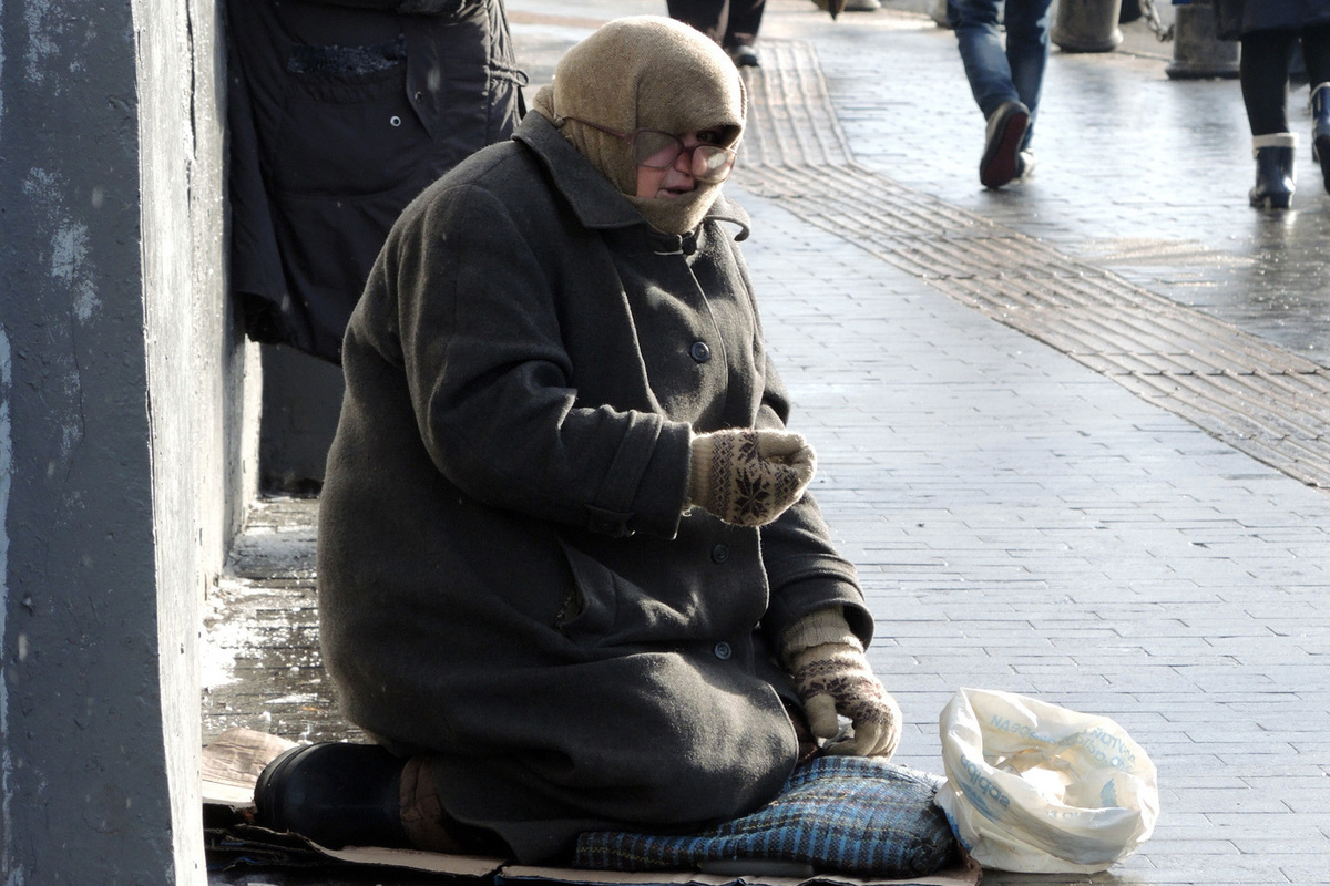
[[[326,849],[295,834],[278,834],[246,822],[253,810],[254,784],[263,768],[282,751],[293,747],[265,732],[229,729],[203,748],[203,804],[226,809],[234,816],[215,825],[209,840],[210,851],[225,845],[226,854],[245,863],[274,866],[310,866],[319,859],[350,865],[379,865],[448,877],[485,878],[495,883],[568,883],[569,886],[802,886],[830,883],[833,886],[976,886],[980,869],[968,859],[952,869],[911,879],[861,879],[827,873],[811,877],[786,877],[763,873],[759,862],[749,871],[742,862],[733,870],[624,873],[613,870],[584,870],[573,867],[540,867],[516,865],[507,858],[479,855],[447,855],[408,849],[346,847]],[[205,828],[210,817],[205,816]]]

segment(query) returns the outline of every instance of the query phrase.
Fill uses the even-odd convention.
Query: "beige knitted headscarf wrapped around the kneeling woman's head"
[[[637,166],[628,142],[565,117],[621,133],[725,129],[724,143],[733,147],[747,110],[743,81],[725,50],[701,32],[661,16],[602,25],[564,54],[553,84],[540,89],[533,108],[560,126],[583,157],[666,234],[696,228],[721,185],[698,182],[686,195],[638,198]]]

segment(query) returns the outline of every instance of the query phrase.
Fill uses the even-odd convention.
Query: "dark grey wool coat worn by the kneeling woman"
[[[778,638],[835,604],[871,635],[810,495],[762,529],[681,513],[690,430],[789,412],[728,222],[653,231],[531,114],[407,207],[347,328],[326,664],[523,862],[769,801],[797,751]]]

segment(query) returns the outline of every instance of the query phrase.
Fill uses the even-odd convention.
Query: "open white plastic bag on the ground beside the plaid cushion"
[[[1154,764],[1108,717],[960,689],[939,732],[947,784],[936,802],[984,867],[1095,873],[1154,830]]]

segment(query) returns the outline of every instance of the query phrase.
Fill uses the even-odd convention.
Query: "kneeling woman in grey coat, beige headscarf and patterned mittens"
[[[319,615],[378,744],[295,748],[257,790],[325,846],[544,862],[899,739],[721,195],[734,64],[622,19],[535,106],[404,211],[347,328]]]

